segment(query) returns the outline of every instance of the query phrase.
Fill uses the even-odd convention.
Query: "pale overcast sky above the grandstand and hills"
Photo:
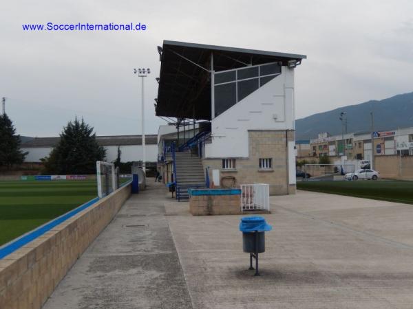
[[[17,132],[56,136],[84,117],[97,135],[146,133],[164,39],[306,54],[296,115],[413,91],[413,1],[1,1],[0,97]],[[22,23],[145,23],[145,32],[24,32]]]

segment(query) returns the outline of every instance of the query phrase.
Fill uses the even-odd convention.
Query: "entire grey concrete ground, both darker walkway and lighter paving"
[[[242,252],[241,216],[188,209],[158,184],[133,196],[45,308],[413,307],[412,205],[273,196],[260,277]]]

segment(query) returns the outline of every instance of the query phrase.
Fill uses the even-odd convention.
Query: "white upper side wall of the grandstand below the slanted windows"
[[[205,157],[248,157],[248,130],[293,130],[293,86],[293,70],[282,67],[281,75],[212,119]]]

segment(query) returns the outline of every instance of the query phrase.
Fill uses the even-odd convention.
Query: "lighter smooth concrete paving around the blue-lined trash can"
[[[411,230],[412,205],[313,192],[271,203],[260,277],[241,216],[167,217],[194,308],[413,307],[413,233],[398,227]]]

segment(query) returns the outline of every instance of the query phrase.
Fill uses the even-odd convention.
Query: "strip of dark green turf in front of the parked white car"
[[[300,181],[297,189],[413,204],[413,181]]]

